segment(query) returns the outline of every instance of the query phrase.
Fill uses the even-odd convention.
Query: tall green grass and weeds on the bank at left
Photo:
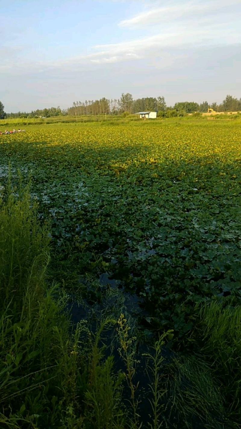
[[[49,251],[29,188],[15,196],[9,184],[0,205],[0,427],[51,427],[65,420],[62,408],[78,407],[77,338],[69,336],[65,297],[46,287]]]

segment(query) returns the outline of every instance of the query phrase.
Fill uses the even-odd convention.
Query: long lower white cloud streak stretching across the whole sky
[[[18,61],[11,59],[2,60],[0,71],[2,73],[42,73],[48,69],[81,69],[89,68],[92,65],[121,63],[127,61],[141,60],[143,58],[158,57],[161,67],[170,63],[172,56],[178,56],[176,50],[188,48],[200,48],[208,46],[234,45],[240,42],[240,37],[235,30],[227,34],[223,27],[216,26],[208,30],[204,27],[202,30],[197,28],[179,28],[173,33],[160,33],[154,36],[148,36],[107,45],[96,45],[92,47],[92,52],[87,55],[66,58],[65,60],[55,61],[33,61],[27,63],[21,58]],[[175,51],[175,53],[173,53]],[[167,55],[168,54],[168,55]],[[161,57],[161,59],[160,59]],[[175,58],[173,58],[175,60]],[[173,60],[171,62],[173,63]]]

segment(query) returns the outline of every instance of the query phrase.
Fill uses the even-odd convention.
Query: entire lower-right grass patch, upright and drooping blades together
[[[241,305],[213,301],[196,311],[196,353],[176,356],[168,368],[169,416],[176,414],[186,428],[238,428]]]

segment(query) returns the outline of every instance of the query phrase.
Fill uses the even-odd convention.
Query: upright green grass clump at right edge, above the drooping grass
[[[241,305],[211,302],[199,317],[201,353],[220,380],[230,413],[241,419]]]

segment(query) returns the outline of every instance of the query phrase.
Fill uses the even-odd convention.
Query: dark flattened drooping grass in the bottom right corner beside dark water
[[[234,428],[223,404],[217,380],[198,356],[178,356],[168,367],[168,420],[181,428]],[[178,426],[179,427],[179,426]]]

